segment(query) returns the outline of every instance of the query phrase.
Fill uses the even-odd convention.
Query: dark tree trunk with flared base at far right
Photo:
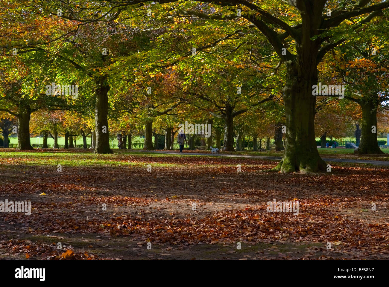
[[[354,154],[384,154],[377,142],[377,107],[373,100],[364,101],[362,107],[361,142]],[[375,133],[372,132],[375,126]]]

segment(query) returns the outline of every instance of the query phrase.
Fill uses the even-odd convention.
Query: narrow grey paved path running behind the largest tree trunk
[[[183,152],[180,154],[179,152],[172,151],[141,151],[141,152],[155,152],[159,154],[175,154],[180,156],[221,156],[226,158],[252,158],[252,159],[268,159],[268,160],[280,160],[282,157],[280,156],[249,156],[243,154],[202,154],[196,152]],[[377,166],[389,166],[389,161],[370,161],[363,159],[347,159],[347,158],[322,158],[325,161],[335,161],[338,163],[368,163],[370,165]]]

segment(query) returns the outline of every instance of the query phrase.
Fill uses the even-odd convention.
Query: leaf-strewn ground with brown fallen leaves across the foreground
[[[0,213],[0,259],[389,259],[388,168],[280,174],[257,159],[114,154],[82,164],[77,153],[79,165],[57,172],[28,154],[0,159],[0,201],[32,206]],[[267,212],[273,199],[298,201],[299,214]]]

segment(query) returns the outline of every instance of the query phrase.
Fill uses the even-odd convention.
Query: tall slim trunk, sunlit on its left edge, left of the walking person
[[[107,75],[96,79],[96,107],[95,107],[95,130],[96,148],[95,154],[112,154],[109,147],[108,130],[108,91]]]

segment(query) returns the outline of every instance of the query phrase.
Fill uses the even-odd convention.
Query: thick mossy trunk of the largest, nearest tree
[[[308,43],[305,43],[308,45]],[[273,168],[279,172],[326,171],[315,140],[316,96],[312,87],[317,84],[317,47],[298,47],[296,63],[286,61],[286,84],[282,90],[286,112],[286,146],[280,163]]]

